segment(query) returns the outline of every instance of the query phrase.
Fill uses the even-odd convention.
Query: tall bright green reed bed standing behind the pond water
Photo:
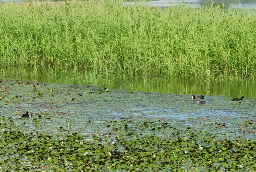
[[[256,15],[219,6],[0,5],[0,66],[207,80],[256,76]]]

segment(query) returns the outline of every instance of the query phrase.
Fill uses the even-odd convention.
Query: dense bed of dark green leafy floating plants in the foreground
[[[256,140],[214,140],[214,134],[190,127],[164,138],[143,132],[143,124],[148,130],[173,130],[160,120],[107,121],[108,135],[90,137],[68,131],[27,133],[18,130],[12,118],[0,119],[1,170],[256,170]]]

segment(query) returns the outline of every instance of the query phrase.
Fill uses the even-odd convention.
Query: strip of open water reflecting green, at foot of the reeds
[[[100,86],[112,89],[131,89],[132,91],[154,91],[158,93],[173,93],[181,95],[225,95],[227,98],[244,96],[246,99],[256,98],[256,82],[205,82],[202,79],[180,78],[147,78],[137,77],[96,77],[85,75],[77,70],[31,70],[25,68],[5,68],[0,70],[0,79],[18,79],[23,81],[37,81],[62,84],[78,84]]]

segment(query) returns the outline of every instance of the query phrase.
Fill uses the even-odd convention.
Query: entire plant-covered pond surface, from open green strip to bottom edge
[[[256,100],[190,97],[1,80],[0,171],[256,170]]]

